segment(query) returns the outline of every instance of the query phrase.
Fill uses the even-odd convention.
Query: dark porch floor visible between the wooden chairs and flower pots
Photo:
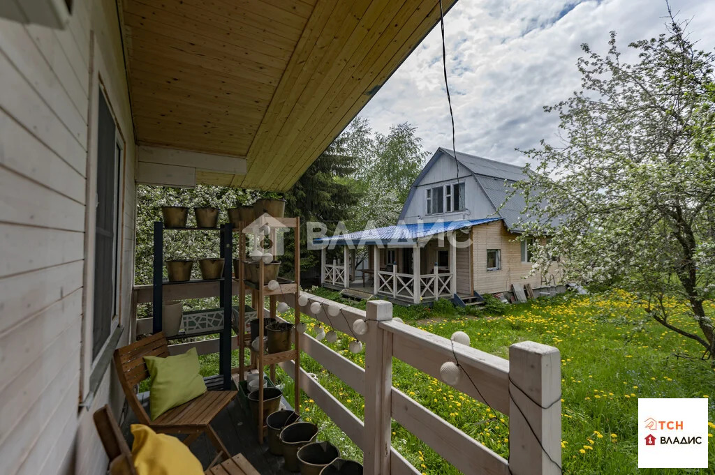
[[[139,394],[139,399],[142,404],[149,397],[149,393]],[[287,401],[282,399],[281,406],[288,406]],[[290,406],[289,406],[290,409]],[[127,439],[129,447],[134,442],[134,437],[129,430],[130,424],[137,424],[137,417],[134,416],[131,410],[127,414],[122,425],[122,432]],[[268,444],[258,444],[257,431],[248,419],[247,415],[241,407],[239,396],[237,396],[226,409],[221,411],[211,426],[219,435],[231,456],[243,454],[246,459],[254,466],[261,475],[295,475],[291,471],[287,471],[283,466],[283,457],[275,456],[268,451]],[[183,438],[183,436],[180,436]],[[204,466],[204,470],[216,456],[215,447],[209,442],[205,434],[199,436],[190,446],[192,453],[197,456]]]

